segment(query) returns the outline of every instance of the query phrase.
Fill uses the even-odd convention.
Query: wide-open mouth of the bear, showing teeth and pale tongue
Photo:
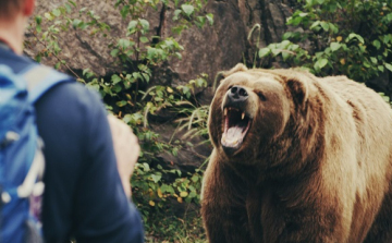
[[[250,127],[252,119],[246,116],[245,111],[237,108],[225,107],[224,130],[221,143],[224,149],[236,150],[241,147],[244,138]]]

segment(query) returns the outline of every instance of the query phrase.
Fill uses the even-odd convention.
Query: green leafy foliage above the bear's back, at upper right
[[[317,75],[365,82],[392,71],[392,2],[306,0],[287,20],[295,28],[258,50],[259,64],[303,66]]]

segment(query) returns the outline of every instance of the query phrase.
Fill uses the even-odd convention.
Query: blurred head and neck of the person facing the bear
[[[22,53],[23,36],[35,0],[0,0],[0,40]]]

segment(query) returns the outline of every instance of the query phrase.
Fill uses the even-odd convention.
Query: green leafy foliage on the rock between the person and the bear
[[[173,21],[176,24],[172,28],[173,35],[162,38],[152,33],[149,21],[144,16],[149,10],[158,11],[158,7],[164,10],[169,4],[175,8]],[[189,130],[185,136],[207,137],[208,108],[199,106],[195,97],[195,89],[207,86],[206,74],[200,74],[188,84],[176,87],[170,85],[171,80],[160,80],[160,83],[169,85],[150,85],[151,80],[158,78],[154,75],[156,70],[170,59],[182,58],[183,47],[176,36],[194,25],[201,28],[207,23],[213,24],[212,14],[204,13],[205,4],[205,0],[181,3],[177,0],[117,0],[114,7],[128,24],[125,36],[115,38],[110,35],[110,26],[94,11],[86,8],[77,9],[76,3],[69,0],[62,7],[45,13],[44,17],[35,16],[29,26],[29,34],[35,38],[32,42],[25,44],[38,47],[38,62],[45,58],[54,58],[58,60],[57,69],[66,69],[88,88],[99,92],[108,104],[108,110],[133,127],[142,147],[131,183],[133,199],[142,211],[147,233],[158,239],[177,241],[175,238],[180,238],[179,229],[183,229],[181,234],[184,239],[188,238],[188,242],[200,239],[200,220],[194,218],[199,218],[199,215],[188,212],[189,217],[185,222],[173,214],[173,208],[199,203],[203,167],[182,173],[177,165],[163,165],[158,159],[158,156],[164,153],[177,156],[180,149],[194,145],[179,139],[164,142],[159,134],[149,129],[148,120],[161,111],[172,112],[176,118],[177,130]],[[62,49],[58,36],[60,32],[75,29],[87,33],[91,38],[108,40],[110,56],[121,71],[99,77],[83,66],[79,74],[71,70],[61,59]],[[162,226],[163,222],[167,224]],[[189,231],[188,227],[196,227],[197,230]],[[192,235],[196,231],[197,238]]]

